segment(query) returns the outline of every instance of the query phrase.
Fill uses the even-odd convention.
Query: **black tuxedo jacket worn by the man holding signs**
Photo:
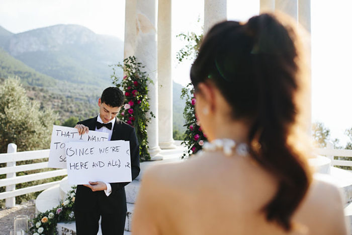
[[[90,130],[96,129],[97,118],[91,118],[80,121],[77,124],[83,124]],[[134,180],[140,172],[139,168],[139,145],[134,127],[116,119],[114,124],[111,140],[130,141],[131,153],[131,172]],[[109,182],[107,182],[109,183]],[[110,183],[111,194],[107,197],[104,190],[93,192],[90,188],[83,185],[77,185],[74,209],[79,211],[101,211],[104,213],[116,213],[126,209],[126,194],[124,183]],[[126,217],[126,213],[122,215]]]

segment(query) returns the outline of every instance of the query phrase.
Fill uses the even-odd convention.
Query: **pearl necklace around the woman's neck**
[[[203,145],[204,152],[218,150],[222,150],[226,156],[231,156],[233,150],[241,156],[245,156],[249,152],[247,144],[236,143],[233,139],[215,139],[212,142],[205,142]]]

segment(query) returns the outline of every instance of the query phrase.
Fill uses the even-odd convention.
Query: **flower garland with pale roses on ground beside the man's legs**
[[[30,231],[33,235],[39,234],[57,234],[56,224],[61,221],[73,221],[73,203],[76,196],[76,186],[72,186],[71,190],[67,192],[67,197],[60,200],[60,204],[51,210],[39,213],[31,220],[32,226]]]

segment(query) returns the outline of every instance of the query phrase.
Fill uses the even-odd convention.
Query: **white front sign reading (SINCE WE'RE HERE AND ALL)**
[[[68,142],[66,154],[68,184],[132,181],[129,141]]]

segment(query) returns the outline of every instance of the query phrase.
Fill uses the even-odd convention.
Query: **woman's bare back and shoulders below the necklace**
[[[147,203],[153,210],[149,219],[135,219],[157,226],[157,232],[140,232],[139,223],[133,227],[137,234],[346,234],[339,192],[321,180],[313,181],[294,213],[291,233],[268,223],[262,208],[278,186],[249,156],[207,152],[185,163],[160,165],[144,181],[141,193],[148,191],[155,200],[140,198],[137,205]],[[136,208],[137,216],[143,209]]]

